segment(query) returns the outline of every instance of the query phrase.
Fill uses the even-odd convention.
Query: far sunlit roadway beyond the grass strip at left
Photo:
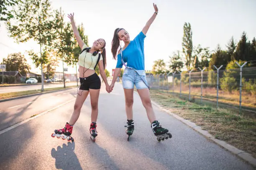
[[[77,85],[77,82],[66,82],[66,86]],[[41,90],[42,85],[19,85],[0,87],[0,94],[6,92],[20,92],[26,90]],[[64,87],[62,83],[44,83],[44,88]]]

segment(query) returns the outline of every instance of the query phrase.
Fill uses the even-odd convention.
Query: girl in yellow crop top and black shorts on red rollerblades
[[[82,105],[90,92],[92,106],[90,137],[93,141],[95,141],[95,137],[97,136],[96,121],[98,116],[98,100],[101,82],[100,77],[95,73],[94,69],[95,66],[98,64],[100,69],[100,75],[105,82],[107,92],[109,92],[109,85],[107,77],[105,75],[106,42],[104,39],[100,38],[93,42],[91,48],[88,48],[87,45],[82,41],[82,38],[80,37],[77,27],[74,23],[74,13],[69,14],[68,17],[72,24],[74,36],[76,37],[77,42],[82,50],[81,54],[79,55],[78,61],[80,87],[79,91],[77,92],[77,98],[74,104],[74,111],[69,122],[66,123],[64,128],[54,130],[52,137],[57,136],[61,137],[62,139],[73,141],[73,138],[70,136],[72,134],[73,125],[78,120]]]

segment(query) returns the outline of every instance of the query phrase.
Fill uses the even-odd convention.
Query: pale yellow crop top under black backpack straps
[[[84,44],[84,46],[82,47],[82,50],[84,48],[87,48],[87,45]],[[92,53],[90,52],[86,52],[86,50],[84,50],[78,58],[78,65],[85,67],[85,68],[89,68],[91,70],[94,70],[94,67],[97,63],[99,57],[99,53],[95,56],[92,55]],[[100,60],[103,60],[102,55],[100,55]],[[100,61],[99,60],[99,61]]]

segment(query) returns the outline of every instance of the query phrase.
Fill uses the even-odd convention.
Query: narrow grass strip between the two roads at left
[[[62,90],[62,89],[70,89],[72,87],[77,87],[77,86],[76,85],[68,86],[66,88],[64,88],[64,87],[46,88],[46,89],[44,89],[44,92],[50,92],[50,91]],[[23,96],[23,95],[37,94],[37,93],[42,93],[43,94],[44,92],[41,92],[41,90],[27,90],[27,91],[21,91],[21,92],[2,93],[2,94],[0,94],[0,100],[1,99],[12,98],[12,97]]]

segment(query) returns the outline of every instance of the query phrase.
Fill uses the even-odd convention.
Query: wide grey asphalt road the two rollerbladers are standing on
[[[74,107],[76,89],[1,102],[0,170],[253,170],[251,165],[210,142],[196,131],[154,107],[172,139],[159,143],[139,96],[134,94],[135,131],[125,135],[122,85],[112,93],[102,86],[98,137],[90,140],[90,96],[74,126],[73,143],[52,138],[63,128]],[[3,130],[33,115],[45,113],[5,133]]]

